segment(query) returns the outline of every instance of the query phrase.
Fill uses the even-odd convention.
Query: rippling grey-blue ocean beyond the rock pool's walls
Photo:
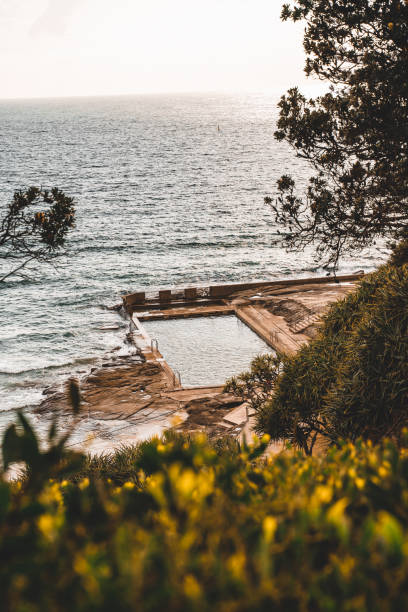
[[[0,214],[14,190],[57,186],[76,228],[56,269],[0,287],[1,422],[123,344],[107,306],[140,288],[323,275],[278,244],[265,195],[310,169],[273,138],[277,99],[156,95],[0,102]],[[372,270],[384,248],[345,258]],[[118,330],[99,328],[120,325]]]

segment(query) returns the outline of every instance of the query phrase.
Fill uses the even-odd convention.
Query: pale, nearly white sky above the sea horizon
[[[0,98],[282,93],[303,26],[281,0],[0,0]]]

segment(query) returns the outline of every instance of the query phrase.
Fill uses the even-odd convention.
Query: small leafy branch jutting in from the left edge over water
[[[44,204],[48,206],[45,210]],[[0,259],[9,264],[0,282],[22,274],[32,261],[50,263],[58,257],[74,217],[73,198],[56,187],[16,191],[0,225]]]

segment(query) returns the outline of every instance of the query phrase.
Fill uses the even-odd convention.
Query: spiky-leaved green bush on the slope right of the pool
[[[336,302],[320,333],[285,359],[257,427],[313,450],[329,442],[398,436],[408,422],[408,266],[383,266]]]

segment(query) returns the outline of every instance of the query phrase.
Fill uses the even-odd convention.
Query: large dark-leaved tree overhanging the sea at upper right
[[[281,17],[306,21],[305,72],[330,90],[281,98],[275,138],[315,174],[303,197],[284,175],[265,201],[289,249],[314,244],[336,267],[378,237],[408,239],[408,2],[294,0]]]

